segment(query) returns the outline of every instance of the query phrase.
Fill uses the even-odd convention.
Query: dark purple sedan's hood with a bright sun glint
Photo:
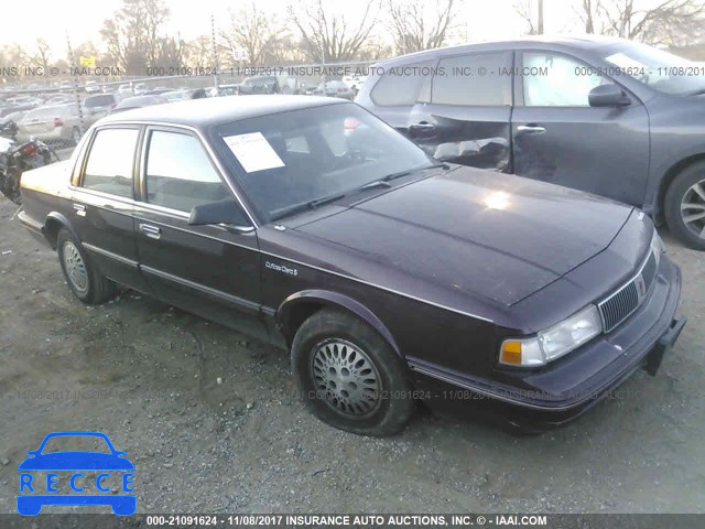
[[[453,166],[295,229],[415,281],[510,306],[605,250],[632,208]]]

